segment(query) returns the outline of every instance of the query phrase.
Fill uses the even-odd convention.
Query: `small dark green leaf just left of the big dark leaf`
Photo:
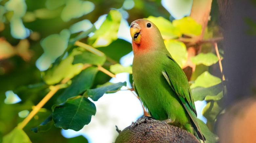
[[[39,126],[35,127],[35,128],[32,128],[31,130],[34,132],[34,133],[37,133],[37,132],[45,132],[45,131],[48,131],[51,129],[53,125],[53,118],[52,118],[52,114],[46,118]]]

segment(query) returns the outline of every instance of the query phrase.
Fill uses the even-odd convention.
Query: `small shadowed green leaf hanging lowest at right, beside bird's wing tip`
[[[202,114],[209,122],[213,122],[216,119],[216,116],[220,113],[221,107],[219,106],[218,101],[210,101],[206,103],[206,106],[203,108]]]

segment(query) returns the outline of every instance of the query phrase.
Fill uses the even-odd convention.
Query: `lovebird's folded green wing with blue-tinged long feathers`
[[[197,121],[196,107],[194,100],[192,98],[187,77],[185,73],[182,71],[181,67],[176,63],[176,61],[170,55],[167,55],[167,57],[170,60],[166,64],[166,67],[162,73],[167,82],[169,83],[170,87],[176,92],[176,94],[181,99],[182,104],[184,105],[190,118],[192,119],[192,124],[196,136],[198,135],[199,138],[205,140]]]

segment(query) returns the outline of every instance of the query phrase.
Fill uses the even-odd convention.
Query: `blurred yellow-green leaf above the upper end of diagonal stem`
[[[53,68],[43,71],[43,79],[48,85],[59,83],[64,78],[73,78],[75,75],[80,73],[83,68],[82,63],[72,64],[74,56],[80,54],[81,52],[73,50],[72,54],[63,59],[59,65]]]

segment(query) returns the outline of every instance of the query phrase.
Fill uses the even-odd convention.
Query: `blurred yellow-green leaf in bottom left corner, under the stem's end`
[[[32,143],[28,135],[18,128],[14,128],[9,134],[3,137],[2,143]]]

